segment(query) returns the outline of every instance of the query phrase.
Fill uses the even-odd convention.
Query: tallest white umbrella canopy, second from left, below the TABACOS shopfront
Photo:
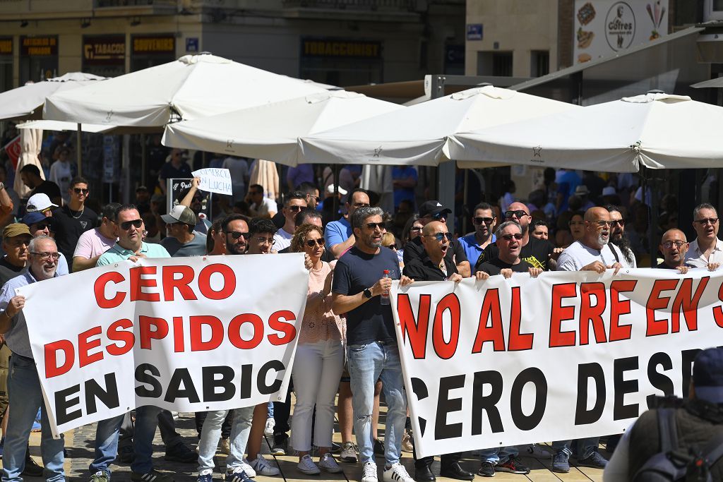
[[[76,92],[51,95],[43,117],[88,124],[163,126],[315,92],[325,90],[222,57],[187,55]]]

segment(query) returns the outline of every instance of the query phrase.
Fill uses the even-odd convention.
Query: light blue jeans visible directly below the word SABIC
[[[213,410],[206,414],[198,442],[198,473],[212,473],[218,439],[221,437],[221,424],[226,419],[228,410]],[[254,407],[234,408],[234,422],[231,424],[231,451],[226,457],[226,472],[234,472],[241,466],[249,442],[251,421],[254,418]]]

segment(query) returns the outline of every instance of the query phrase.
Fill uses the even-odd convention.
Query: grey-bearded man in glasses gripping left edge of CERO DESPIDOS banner
[[[47,474],[46,480],[64,481],[65,439],[62,434],[58,439],[54,439],[51,434],[38,370],[35,368],[30,340],[27,337],[25,316],[22,314],[25,296],[15,295],[15,290],[21,286],[57,276],[60,255],[55,241],[48,236],[33,238],[28,246],[28,255],[30,257],[28,270],[9,280],[0,291],[0,310],[2,310],[0,333],[5,336],[5,342],[12,350],[8,376],[12,417],[9,418],[5,434],[2,478],[4,481],[22,481],[20,474],[25,468],[25,448],[30,437],[30,427],[33,426],[38,409],[43,407],[40,417],[42,430],[40,443]]]

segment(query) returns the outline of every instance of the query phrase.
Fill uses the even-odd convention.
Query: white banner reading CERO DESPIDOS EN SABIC
[[[216,256],[121,262],[23,287],[54,434],[141,405],[285,400],[308,277],[301,254]]]

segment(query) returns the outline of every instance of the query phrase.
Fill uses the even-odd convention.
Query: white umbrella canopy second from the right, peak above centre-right
[[[495,126],[572,104],[487,85],[299,139],[299,162],[437,165],[455,132]]]

